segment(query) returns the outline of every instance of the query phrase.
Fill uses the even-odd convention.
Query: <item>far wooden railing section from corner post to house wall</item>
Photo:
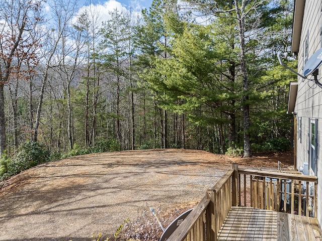
[[[238,168],[238,206],[316,217],[316,193],[316,176]]]

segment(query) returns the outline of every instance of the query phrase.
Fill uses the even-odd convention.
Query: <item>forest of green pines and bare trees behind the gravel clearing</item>
[[[108,21],[77,0],[0,6],[0,153],[292,146],[296,76],[276,55],[290,50],[293,1],[153,0]]]

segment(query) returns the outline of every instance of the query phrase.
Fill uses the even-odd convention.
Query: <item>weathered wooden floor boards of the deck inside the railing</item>
[[[231,207],[217,240],[322,240],[316,218],[252,207]]]

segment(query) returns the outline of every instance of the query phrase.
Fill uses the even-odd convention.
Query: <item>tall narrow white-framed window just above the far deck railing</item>
[[[317,175],[317,119],[309,119],[309,159],[310,169]]]

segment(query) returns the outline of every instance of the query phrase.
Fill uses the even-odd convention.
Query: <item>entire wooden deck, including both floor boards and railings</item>
[[[288,202],[282,202],[285,198]],[[322,241],[316,204],[316,176],[233,163],[167,240]]]

